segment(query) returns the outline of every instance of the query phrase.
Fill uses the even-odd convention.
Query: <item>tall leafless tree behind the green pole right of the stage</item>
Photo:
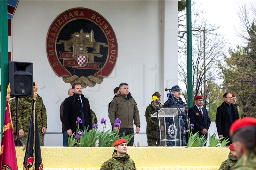
[[[194,6],[194,5],[193,5]],[[194,8],[193,8],[194,9]],[[219,26],[208,23],[202,18],[204,12],[194,9],[192,21],[192,82],[193,94],[204,96],[204,107],[216,100],[219,95],[213,95],[212,83],[220,79],[218,67],[225,54],[226,41],[217,32]],[[179,81],[187,84],[187,42],[184,14],[179,18]],[[187,101],[186,93],[184,97]]]

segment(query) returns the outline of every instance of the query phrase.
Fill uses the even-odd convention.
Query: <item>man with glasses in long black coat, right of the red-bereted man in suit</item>
[[[232,105],[232,94],[226,92],[223,95],[224,102],[217,108],[216,112],[216,127],[219,138],[221,137],[229,137],[229,129],[233,122],[238,119],[238,111],[236,106]],[[231,144],[229,139],[229,146]]]

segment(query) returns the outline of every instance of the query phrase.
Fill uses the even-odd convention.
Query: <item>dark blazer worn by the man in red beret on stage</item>
[[[192,129],[192,133],[196,133],[199,131],[199,136],[203,135],[201,133],[203,129],[207,129],[208,131],[211,124],[211,120],[208,115],[207,109],[202,107],[202,111],[204,114],[204,118],[202,117],[196,105],[188,109],[188,118],[190,119],[190,123],[194,123],[194,127],[193,127],[194,129]],[[205,134],[205,137],[207,138],[207,133]]]

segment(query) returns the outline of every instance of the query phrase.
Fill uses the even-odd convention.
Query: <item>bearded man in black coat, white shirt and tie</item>
[[[79,83],[73,84],[72,88],[74,89],[74,95],[64,100],[63,109],[63,123],[69,136],[76,132],[77,117],[82,119],[78,129],[84,130],[84,127],[87,128],[87,126],[89,126],[88,130],[92,128],[89,100],[82,94],[82,86]]]

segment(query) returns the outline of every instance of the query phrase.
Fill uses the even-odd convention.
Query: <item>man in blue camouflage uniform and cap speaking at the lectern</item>
[[[164,107],[174,107],[176,108],[175,103],[178,107],[184,108],[185,110],[180,114],[180,139],[182,142],[180,143],[180,146],[186,146],[186,137],[185,134],[188,132],[188,115],[186,113],[186,103],[182,101],[180,98],[181,89],[178,85],[174,85],[171,89],[172,94],[174,95],[172,100],[172,96],[169,97],[169,99],[164,103]],[[173,119],[172,118],[165,118],[166,121],[166,131],[168,131],[168,128],[173,125]],[[178,122],[178,118],[174,118],[175,122]],[[185,123],[185,126],[184,126]],[[176,125],[175,125],[176,126]],[[176,129],[178,130],[178,127],[176,126]],[[177,134],[178,135],[178,134]],[[168,138],[167,138],[168,139]],[[167,141],[166,145],[168,146],[177,146],[178,142],[175,144],[175,141]]]

